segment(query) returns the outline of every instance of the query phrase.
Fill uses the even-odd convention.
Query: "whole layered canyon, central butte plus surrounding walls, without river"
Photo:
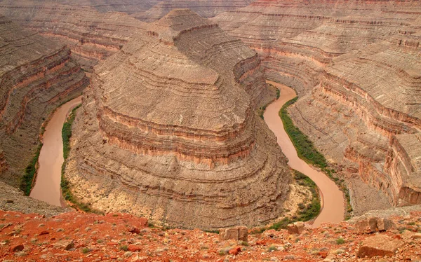
[[[421,203],[421,1],[36,3],[0,1],[2,181],[18,186],[88,71],[66,167],[77,198],[176,227],[269,223],[292,179],[255,114],[268,78],[298,93],[290,117],[353,215]]]

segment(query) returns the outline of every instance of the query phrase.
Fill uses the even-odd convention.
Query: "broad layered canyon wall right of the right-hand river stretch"
[[[255,1],[211,19],[298,92],[290,115],[338,164],[355,214],[420,203],[419,151],[398,146],[420,132],[420,14],[421,1]]]

